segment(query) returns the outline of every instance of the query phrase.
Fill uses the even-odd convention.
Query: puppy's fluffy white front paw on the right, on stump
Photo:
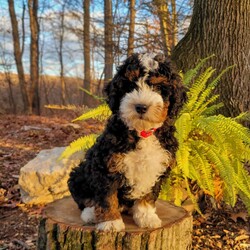
[[[150,204],[135,204],[133,207],[134,222],[142,228],[161,227],[161,220]]]

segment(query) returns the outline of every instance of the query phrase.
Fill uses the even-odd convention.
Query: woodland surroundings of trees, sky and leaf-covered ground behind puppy
[[[164,53],[183,72],[214,54],[207,65],[218,74],[234,65],[215,89],[221,113],[234,117],[250,110],[249,30],[249,0],[0,0],[0,249],[36,247],[41,207],[21,202],[20,168],[42,149],[103,129],[75,128],[80,113],[51,117],[45,105],[97,105],[80,88],[102,96],[132,52]],[[249,249],[249,225],[240,201],[210,206],[194,216],[193,249]]]

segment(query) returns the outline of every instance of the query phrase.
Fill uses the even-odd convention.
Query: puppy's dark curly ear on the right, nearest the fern
[[[187,101],[187,88],[183,86],[179,75],[172,75],[170,80],[171,94],[169,96],[168,116],[176,118],[184,103]]]

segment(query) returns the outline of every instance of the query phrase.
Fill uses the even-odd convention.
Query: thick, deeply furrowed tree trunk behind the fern
[[[189,30],[173,51],[172,59],[183,71],[212,54],[216,57],[209,64],[217,72],[236,65],[217,88],[226,116],[250,110],[249,31],[249,0],[195,0]]]

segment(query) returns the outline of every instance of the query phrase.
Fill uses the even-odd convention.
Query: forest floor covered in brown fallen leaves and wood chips
[[[72,126],[74,117],[0,115],[0,250],[36,249],[42,207],[20,200],[20,168],[42,149],[67,146],[79,136],[98,132],[96,121]],[[250,249],[250,219],[240,202],[232,209],[194,215],[192,249]]]

